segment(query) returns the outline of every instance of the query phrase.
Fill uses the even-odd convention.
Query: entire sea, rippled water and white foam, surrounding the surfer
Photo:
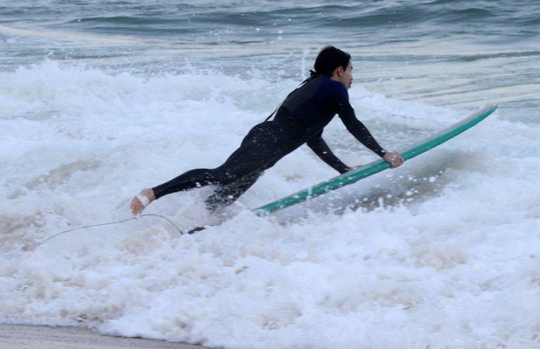
[[[0,322],[212,348],[540,348],[537,1],[0,1]],[[131,196],[220,165],[333,44],[349,96],[399,150],[448,143],[277,215],[333,177],[302,147],[228,219],[210,188]],[[375,156],[338,118],[349,165]]]

